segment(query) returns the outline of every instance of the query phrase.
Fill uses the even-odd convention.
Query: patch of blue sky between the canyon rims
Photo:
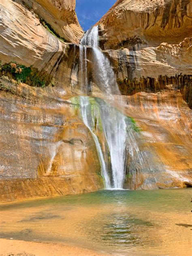
[[[76,13],[83,30],[91,28],[116,0],[76,0]]]

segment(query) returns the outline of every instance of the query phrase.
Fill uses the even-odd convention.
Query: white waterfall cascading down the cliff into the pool
[[[110,65],[108,58],[102,53],[98,46],[98,27],[88,30],[81,39],[80,47],[80,68],[81,68],[81,88],[83,92],[87,90],[87,46],[92,47],[94,53],[94,77],[96,84],[102,90],[106,99],[113,101],[113,94],[120,94],[116,77]],[[102,128],[107,141],[107,146],[111,159],[111,178],[106,169],[105,158],[95,131],[93,130],[92,121],[89,117],[90,102],[88,97],[81,96],[81,115],[83,122],[92,133],[92,137],[96,143],[98,156],[101,163],[102,176],[105,181],[106,188],[123,188],[125,169],[126,169],[126,141],[128,137],[126,116],[117,111],[114,107],[103,104],[102,100],[96,99],[100,109],[100,118],[102,120]],[[129,136],[130,137],[130,136]],[[129,149],[130,150],[130,149]]]

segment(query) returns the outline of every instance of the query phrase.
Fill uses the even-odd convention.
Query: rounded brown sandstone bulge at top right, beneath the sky
[[[118,0],[98,21],[105,49],[161,42],[180,43],[192,36],[190,0]]]

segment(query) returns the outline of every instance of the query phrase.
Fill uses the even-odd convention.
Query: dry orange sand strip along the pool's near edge
[[[75,246],[0,239],[0,256],[107,256]]]

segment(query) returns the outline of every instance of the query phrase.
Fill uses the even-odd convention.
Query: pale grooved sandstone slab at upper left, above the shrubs
[[[49,33],[25,6],[2,0],[0,11],[2,63],[15,61],[51,73],[66,45]]]

